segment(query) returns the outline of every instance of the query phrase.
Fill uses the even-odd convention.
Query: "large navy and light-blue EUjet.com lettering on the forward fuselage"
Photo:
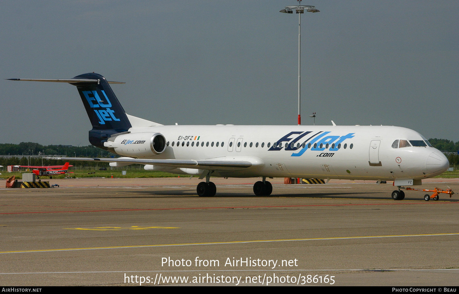
[[[284,148],[286,151],[297,151],[291,153],[291,156],[302,156],[306,150],[311,151],[324,151],[327,147],[330,147],[329,151],[337,151],[338,145],[344,142],[346,139],[353,138],[355,133],[349,133],[345,136],[326,136],[330,132],[319,131],[313,133],[312,131],[294,131],[280,138],[273,144],[268,151],[279,151]],[[285,143],[284,143],[285,142]],[[304,147],[303,147],[304,144]],[[283,146],[284,145],[284,146]],[[339,145],[341,146],[341,145]],[[320,153],[320,157],[331,157],[335,153]]]

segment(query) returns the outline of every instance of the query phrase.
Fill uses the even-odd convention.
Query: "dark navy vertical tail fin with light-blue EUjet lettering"
[[[123,106],[116,98],[106,79],[96,73],[75,76],[74,79],[90,79],[97,82],[76,82],[84,108],[92,124],[89,141],[92,145],[106,149],[104,142],[116,133],[122,133],[132,127]]]

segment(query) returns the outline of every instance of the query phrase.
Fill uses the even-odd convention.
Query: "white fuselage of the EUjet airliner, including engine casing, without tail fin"
[[[396,126],[161,125],[129,131],[114,149],[119,155],[253,164],[247,169],[215,170],[212,176],[420,180],[442,174],[449,167],[448,159],[433,147],[400,148],[398,143],[397,148],[392,147],[396,140],[426,141],[418,132]],[[161,154],[150,152],[148,134],[152,132],[161,133],[168,142]],[[147,165],[146,169],[202,173],[164,166]]]

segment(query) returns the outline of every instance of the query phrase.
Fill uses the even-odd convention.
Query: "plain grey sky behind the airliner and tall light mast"
[[[459,1],[313,0],[302,15],[302,122],[398,125],[458,141]],[[3,0],[0,77],[95,71],[161,124],[295,125],[295,0]],[[0,80],[2,143],[87,145],[67,83]]]

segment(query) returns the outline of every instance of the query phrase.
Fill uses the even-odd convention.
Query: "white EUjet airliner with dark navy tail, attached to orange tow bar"
[[[133,163],[146,170],[200,175],[199,196],[214,196],[210,177],[262,177],[257,196],[273,187],[266,178],[294,177],[394,181],[421,185],[442,174],[448,159],[418,132],[397,126],[364,125],[161,125],[126,114],[109,84],[96,73],[71,79],[10,79],[67,82],[77,87],[91,120],[92,145],[121,158],[65,158],[103,161],[111,166]],[[55,158],[60,159],[60,158]]]

